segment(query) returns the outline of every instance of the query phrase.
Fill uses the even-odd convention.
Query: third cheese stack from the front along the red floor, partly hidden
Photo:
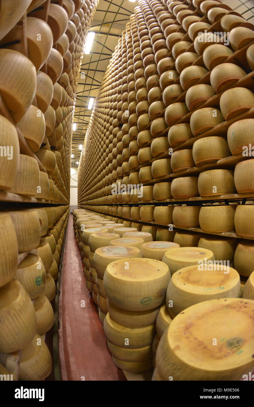
[[[92,298],[97,306],[99,306],[97,295],[99,293],[96,287],[96,269],[94,268],[94,253],[99,247],[108,246],[110,242],[114,239],[118,239],[119,235],[112,232],[94,232],[91,233],[88,239],[88,245],[90,252],[88,254],[88,262],[85,262],[85,277],[87,277],[87,271],[89,270],[91,284],[87,284],[89,281],[86,281],[86,286],[88,290],[92,288]],[[89,267],[89,268],[88,268]]]

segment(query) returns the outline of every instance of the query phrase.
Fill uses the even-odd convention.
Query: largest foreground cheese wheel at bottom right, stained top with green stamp
[[[157,349],[160,378],[242,380],[243,374],[254,369],[253,306],[252,300],[216,298],[190,306],[177,315]],[[190,335],[186,335],[186,330],[190,330]]]

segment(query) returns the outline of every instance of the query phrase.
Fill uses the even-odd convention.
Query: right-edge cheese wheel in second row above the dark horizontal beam
[[[249,149],[252,151],[254,146],[252,138],[252,126],[254,119],[243,119],[234,122],[228,128],[228,147],[233,155],[243,153],[249,155]]]

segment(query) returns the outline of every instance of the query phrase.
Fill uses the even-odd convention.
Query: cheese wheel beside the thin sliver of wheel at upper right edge
[[[216,93],[239,81],[245,76],[242,68],[234,63],[221,63],[212,69],[210,82]]]

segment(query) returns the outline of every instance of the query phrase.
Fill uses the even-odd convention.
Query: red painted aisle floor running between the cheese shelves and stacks
[[[81,302],[85,301],[85,307]],[[59,357],[64,381],[126,380],[112,361],[98,309],[85,286],[83,265],[70,215],[59,296]],[[84,379],[83,379],[84,380]]]

